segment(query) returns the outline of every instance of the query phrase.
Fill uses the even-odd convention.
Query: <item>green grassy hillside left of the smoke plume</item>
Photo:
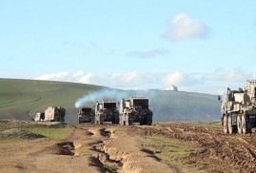
[[[0,119],[30,120],[47,106],[65,106],[66,120],[77,118],[75,101],[102,87],[51,81],[0,79]]]

